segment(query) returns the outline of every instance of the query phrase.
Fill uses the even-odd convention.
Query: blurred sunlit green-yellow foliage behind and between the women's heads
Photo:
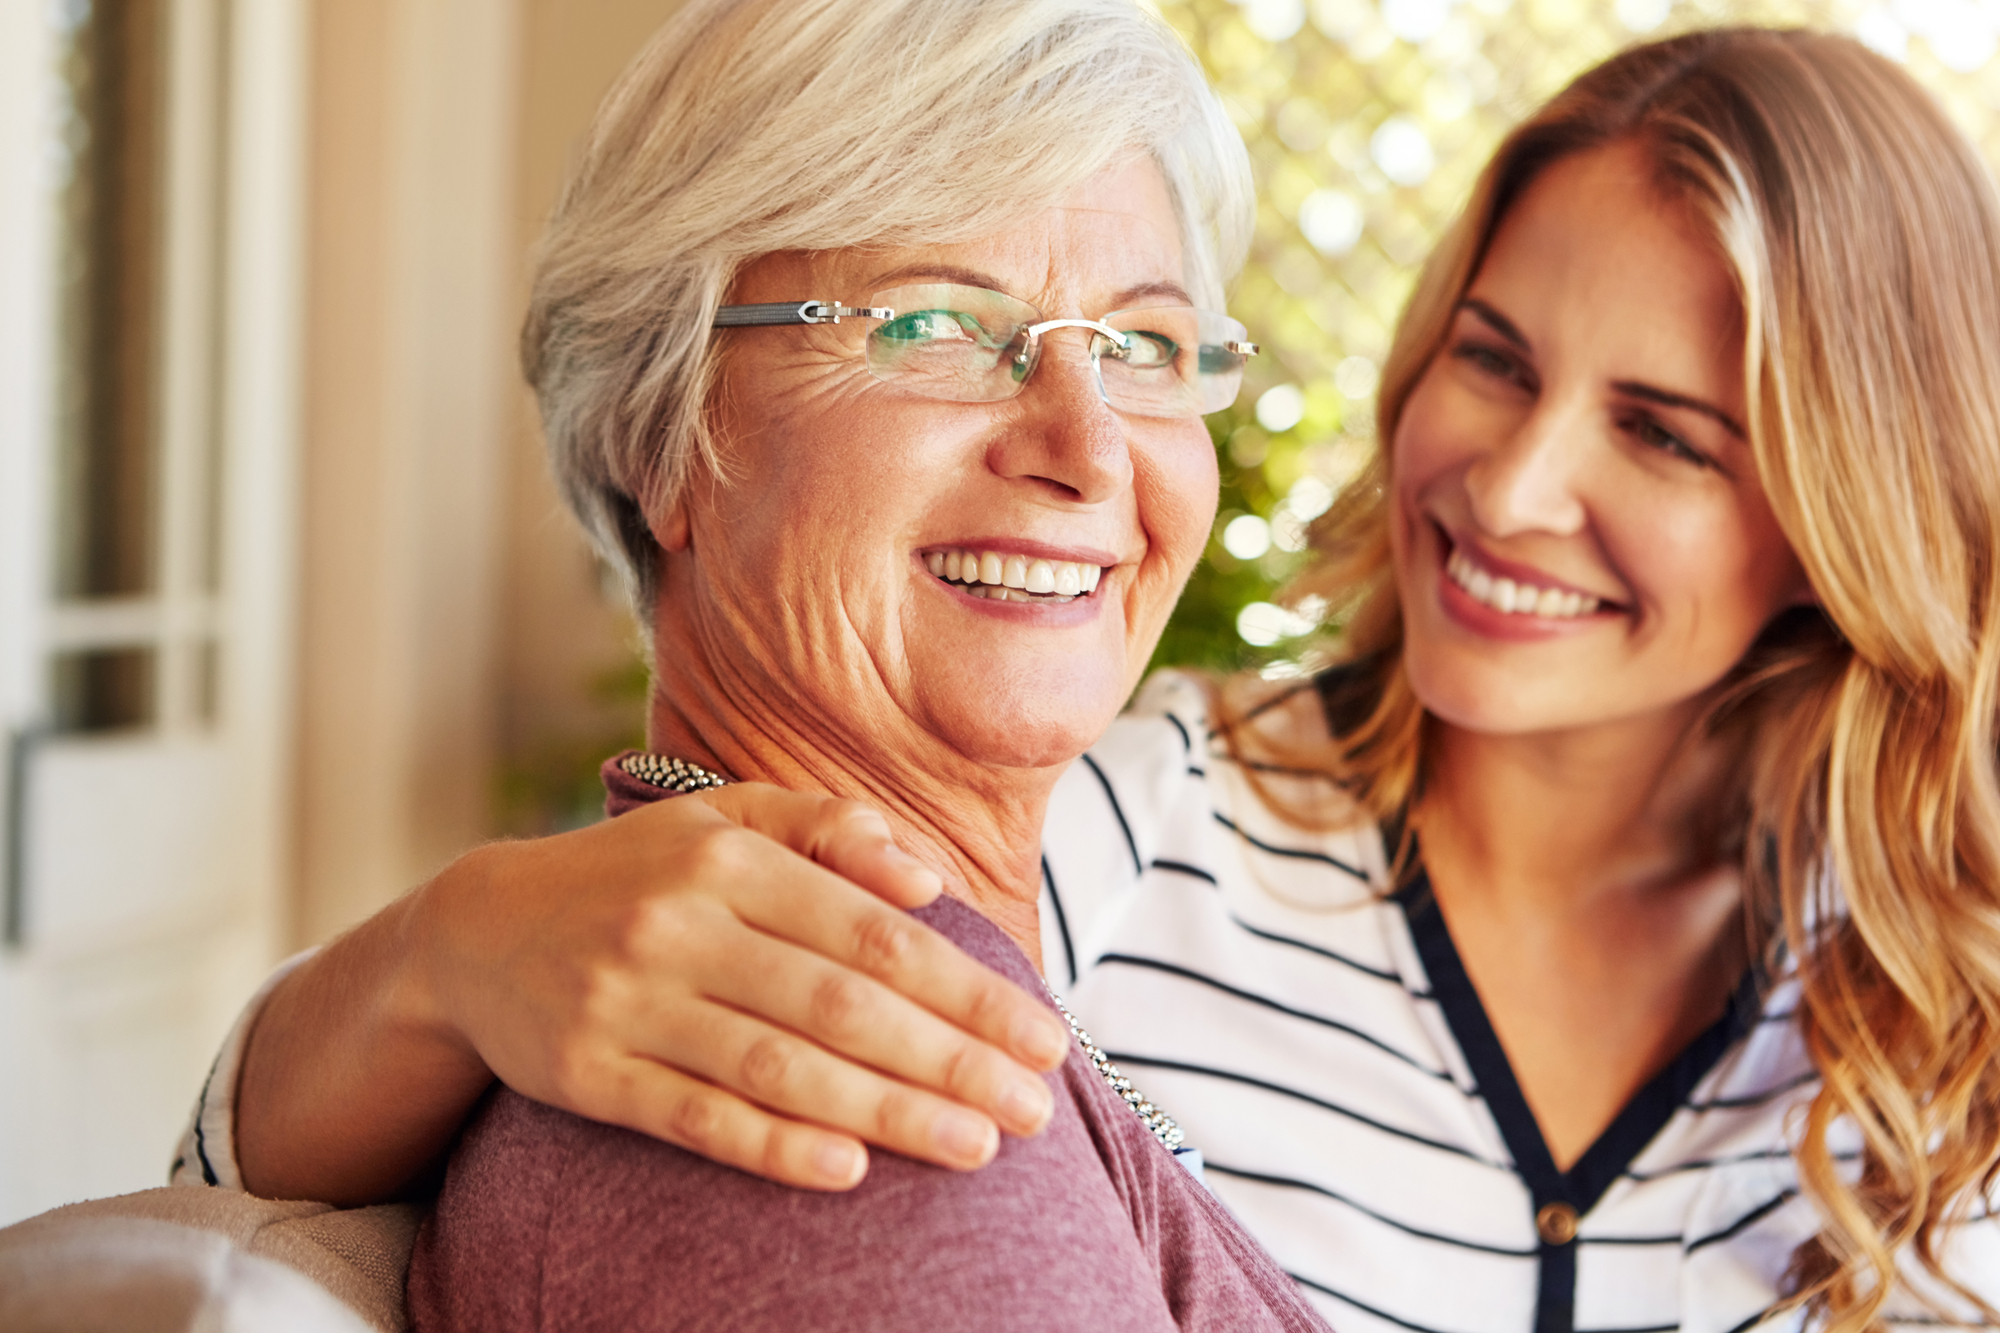
[[[1636,40],[1714,24],[1808,24],[1904,60],[1994,160],[2000,6],[1976,0],[1154,0],[1250,146],[1258,224],[1230,312],[1264,344],[1238,404],[1210,420],[1222,504],[1154,664],[1268,666],[1304,630],[1260,606],[1298,568],[1318,512],[1374,448],[1374,372],[1416,266],[1500,136],[1578,72]],[[1278,390],[1276,398],[1268,398]],[[1264,410],[1260,410],[1264,408]],[[1276,410],[1272,410],[1276,408]],[[1296,414],[1296,420],[1292,420]],[[1260,416],[1264,418],[1260,424]],[[1280,426],[1280,428],[1268,428]],[[1266,520],[1238,558],[1224,530]],[[1256,538],[1248,524],[1244,538]],[[1238,542],[1254,550],[1256,542]]]

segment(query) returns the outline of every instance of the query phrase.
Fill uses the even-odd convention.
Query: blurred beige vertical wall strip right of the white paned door
[[[514,0],[316,8],[298,941],[488,833],[518,62]]]

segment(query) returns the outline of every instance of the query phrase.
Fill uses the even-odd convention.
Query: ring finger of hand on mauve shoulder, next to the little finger
[[[686,1015],[676,1037],[686,1041],[668,1055],[676,1069],[780,1117],[956,1171],[984,1167],[1000,1151],[1000,1127],[978,1111],[722,1005]]]

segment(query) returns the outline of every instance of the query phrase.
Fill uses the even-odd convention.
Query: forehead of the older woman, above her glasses
[[[746,266],[730,300],[790,300],[798,294],[860,300],[900,282],[978,280],[1048,312],[1112,308],[1128,292],[1186,300],[1180,220],[1166,178],[1150,158],[1100,170],[1052,208],[976,240],[932,246],[856,246],[768,254]],[[824,290],[824,292],[822,292]],[[756,294],[752,294],[756,292]]]

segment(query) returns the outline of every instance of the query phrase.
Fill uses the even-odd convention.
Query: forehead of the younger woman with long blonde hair
[[[1544,170],[1500,220],[1470,292],[1502,306],[1536,350],[1616,360],[1618,374],[1644,380],[1668,370],[1740,378],[1736,284],[1698,216],[1660,188],[1634,144]]]

